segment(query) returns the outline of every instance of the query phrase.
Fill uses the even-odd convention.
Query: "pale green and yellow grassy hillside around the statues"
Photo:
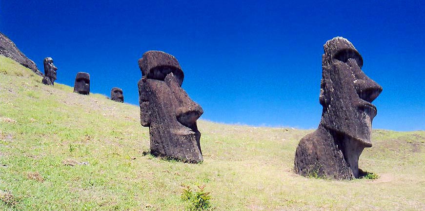
[[[45,86],[0,56],[0,210],[182,211],[182,185],[206,185],[214,211],[425,210],[424,131],[375,130],[359,166],[379,178],[331,181],[292,173],[311,131],[198,127],[203,163],[153,157],[138,106]]]

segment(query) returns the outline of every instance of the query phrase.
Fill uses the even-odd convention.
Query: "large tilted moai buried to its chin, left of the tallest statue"
[[[139,59],[139,67],[140,122],[149,127],[151,154],[201,162],[196,120],[203,111],[181,87],[184,75],[179,62],[167,53],[148,51]]]

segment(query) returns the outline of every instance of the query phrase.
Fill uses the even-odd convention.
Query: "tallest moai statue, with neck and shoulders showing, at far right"
[[[337,37],[324,44],[318,129],[305,135],[295,153],[295,173],[353,179],[364,174],[359,156],[372,147],[370,134],[382,87],[361,70],[363,58],[353,44]]]

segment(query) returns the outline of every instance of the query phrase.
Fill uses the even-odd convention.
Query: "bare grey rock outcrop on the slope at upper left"
[[[16,47],[15,43],[12,42],[6,35],[0,32],[0,54],[15,60],[21,65],[31,69],[34,73],[39,76],[43,76],[40,70],[37,68],[37,65],[31,59],[27,58],[18,47]]]

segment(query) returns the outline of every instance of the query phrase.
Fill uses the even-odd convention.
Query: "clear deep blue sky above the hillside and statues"
[[[300,1],[301,2],[301,1]],[[345,2],[345,3],[343,3]],[[0,31],[56,82],[91,76],[91,92],[138,105],[137,60],[174,55],[201,118],[316,128],[323,44],[342,36],[384,88],[375,129],[425,130],[425,3],[409,1],[0,0]]]

